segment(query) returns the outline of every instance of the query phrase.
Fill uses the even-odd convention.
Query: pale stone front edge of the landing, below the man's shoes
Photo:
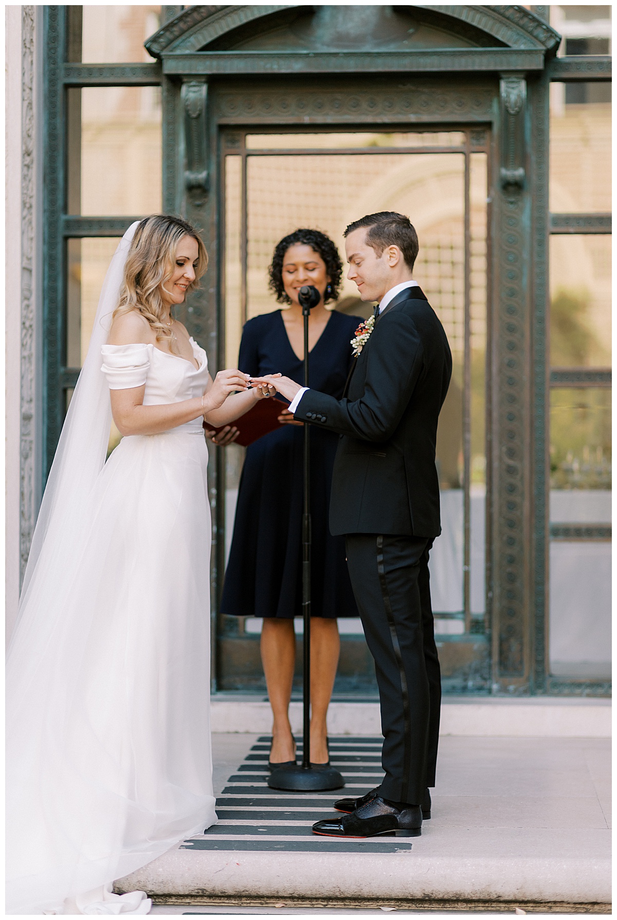
[[[274,858],[273,858],[274,857]],[[217,899],[376,899],[466,903],[611,902],[611,859],[423,857],[400,854],[213,852],[174,849],[116,882],[155,902]],[[172,892],[172,893],[171,893]]]

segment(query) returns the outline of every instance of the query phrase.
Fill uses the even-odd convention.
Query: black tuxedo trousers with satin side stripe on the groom
[[[384,735],[380,795],[420,804],[435,786],[441,675],[431,610],[433,540],[349,534],[347,565],[375,671]]]

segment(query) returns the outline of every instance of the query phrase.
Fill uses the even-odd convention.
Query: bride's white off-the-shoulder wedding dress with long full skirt
[[[103,345],[103,383],[201,397],[191,341],[199,369]],[[124,437],[83,494],[75,466],[75,530],[46,509],[6,668],[8,914],[147,913],[112,881],[216,821],[207,458],[201,419]]]

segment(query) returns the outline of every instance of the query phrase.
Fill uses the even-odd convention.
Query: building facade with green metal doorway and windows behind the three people
[[[606,695],[611,8],[7,7],[7,614],[117,240],[204,232],[180,318],[214,369],[277,307],[274,244],[410,215],[454,374],[431,562],[444,689]],[[335,309],[361,314],[345,282]],[[111,431],[110,450],[118,440]],[[262,693],[217,614],[242,449],[211,450],[213,682]],[[343,627],[343,622],[342,622]],[[336,690],[374,692],[359,623]]]

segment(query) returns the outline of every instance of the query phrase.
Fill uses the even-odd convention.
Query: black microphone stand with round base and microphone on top
[[[312,284],[301,287],[297,297],[304,318],[304,385],[309,386],[309,316],[321,300]],[[304,513],[302,515],[302,618],[304,622],[302,664],[302,765],[281,766],[268,777],[274,789],[315,792],[339,789],[343,776],[329,764],[310,763],[310,425],[304,423]]]

